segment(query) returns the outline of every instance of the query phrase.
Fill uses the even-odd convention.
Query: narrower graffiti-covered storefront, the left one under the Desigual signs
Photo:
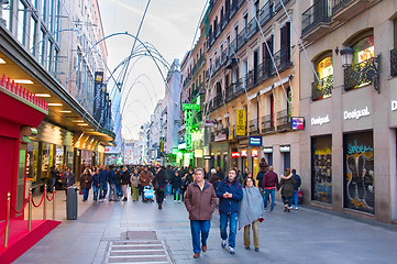
[[[311,199],[332,205],[332,136],[311,140]]]

